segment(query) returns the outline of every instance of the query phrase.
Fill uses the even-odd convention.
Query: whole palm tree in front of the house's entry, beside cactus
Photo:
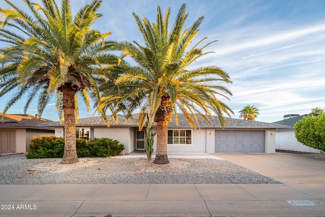
[[[184,114],[192,128],[196,128],[197,115],[204,117],[209,123],[208,116],[217,114],[222,126],[226,125],[223,113],[230,116],[233,111],[216,96],[232,95],[231,91],[218,82],[232,83],[227,73],[216,66],[206,66],[189,69],[190,65],[209,52],[203,50],[212,42],[202,46],[206,39],[200,40],[189,47],[199,32],[199,26],[204,17],[200,17],[189,28],[183,30],[188,16],[186,5],[183,4],[176,17],[173,28],[169,32],[170,8],[161,13],[157,7],[156,23],[147,18],[142,20],[133,13],[145,45],[137,42],[122,42],[121,47],[125,56],[132,57],[138,66],[119,66],[115,70],[123,72],[115,84],[122,89],[120,95],[106,92],[101,101],[101,112],[107,108],[124,103],[127,113],[140,108],[139,127],[142,129],[149,114],[150,120],[157,123],[157,148],[154,163],[167,164],[167,133],[168,122],[173,112]],[[127,89],[127,90],[126,90]],[[125,103],[127,101],[127,103]],[[138,103],[133,103],[138,102]],[[177,120],[177,112],[175,112]]]

